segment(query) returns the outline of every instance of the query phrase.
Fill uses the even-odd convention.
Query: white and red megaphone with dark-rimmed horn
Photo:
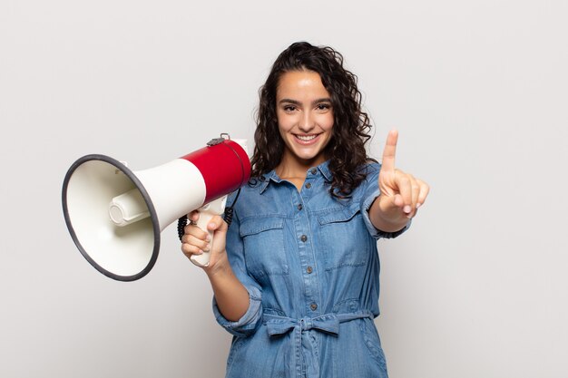
[[[197,226],[207,230],[209,220],[223,213],[227,195],[249,179],[246,141],[230,140],[228,134],[149,170],[132,171],[111,157],[86,155],[64,178],[65,223],[93,267],[133,281],[152,270],[164,228],[200,210]],[[209,258],[203,253],[191,261],[204,267]]]

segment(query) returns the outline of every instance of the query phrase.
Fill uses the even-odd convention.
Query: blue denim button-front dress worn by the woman
[[[329,195],[328,162],[301,192],[272,171],[241,189],[227,236],[248,312],[217,321],[233,340],[227,377],[387,377],[373,318],[379,314],[377,239],[371,224],[379,164],[350,199]],[[230,199],[232,200],[232,199]]]

